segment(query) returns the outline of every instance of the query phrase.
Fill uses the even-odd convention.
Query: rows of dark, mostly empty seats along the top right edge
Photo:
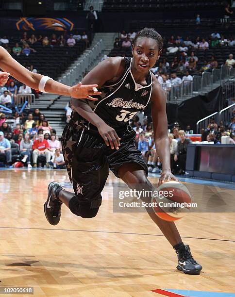
[[[222,1],[188,0],[104,0],[102,11],[163,11],[168,9],[221,8]]]

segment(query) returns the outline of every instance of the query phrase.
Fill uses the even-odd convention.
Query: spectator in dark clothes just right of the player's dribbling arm
[[[185,138],[185,131],[179,131],[180,140],[178,141],[177,152],[174,155],[174,161],[179,162],[179,175],[185,174],[185,166],[186,166],[186,154],[187,154],[187,146],[191,143],[191,140]]]

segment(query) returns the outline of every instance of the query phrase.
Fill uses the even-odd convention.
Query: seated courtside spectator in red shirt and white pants
[[[33,167],[37,167],[37,158],[39,155],[45,155],[46,156],[46,166],[47,168],[50,167],[50,151],[49,151],[49,143],[47,140],[44,139],[44,136],[42,133],[38,134],[38,139],[34,140],[33,145]]]

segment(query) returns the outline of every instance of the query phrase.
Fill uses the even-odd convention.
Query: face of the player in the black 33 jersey
[[[148,37],[140,37],[132,46],[134,68],[137,71],[147,72],[160,58],[162,50],[158,49],[157,42]]]

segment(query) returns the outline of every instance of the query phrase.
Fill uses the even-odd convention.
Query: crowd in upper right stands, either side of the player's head
[[[122,31],[115,39],[114,48],[109,56],[123,55],[131,56],[131,46],[134,41],[135,32],[126,33]],[[222,64],[235,67],[233,53],[235,53],[235,37],[226,38],[217,31],[207,38],[191,38],[186,36],[163,37],[164,48],[162,55],[156,65],[151,68],[153,74],[166,90],[172,84],[181,84],[183,81],[192,81],[193,75],[201,75],[202,72],[211,72]],[[233,47],[233,48],[232,48]],[[213,54],[213,49],[226,48],[233,51],[222,57]],[[198,54],[198,56],[197,56]]]

